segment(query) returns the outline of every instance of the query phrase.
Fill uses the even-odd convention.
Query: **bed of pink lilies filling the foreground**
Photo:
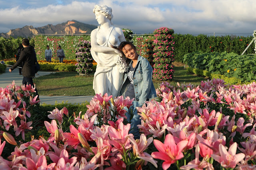
[[[26,120],[35,114],[30,108],[37,101],[29,97],[34,93],[29,86],[21,89],[22,93],[14,83],[0,89],[0,99],[4,101],[0,107],[4,137],[0,144],[2,167],[254,169],[256,166],[255,82],[228,86],[223,80],[213,79],[202,81],[197,87],[179,83],[173,87],[163,82],[156,90],[156,101],[137,108],[142,117],[138,140],[128,133],[130,124],[125,120],[124,107],[129,108],[132,100],[113,99],[107,94],[95,95],[86,113],[72,115],[65,107],[50,111],[48,118],[52,121],[44,122],[50,137],[24,140],[24,132],[35,128]],[[20,100],[25,102],[23,106]]]

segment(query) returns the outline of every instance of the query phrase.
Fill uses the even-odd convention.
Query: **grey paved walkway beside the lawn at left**
[[[0,74],[0,87],[6,87],[7,85],[11,84],[12,81],[15,81],[16,85],[22,85],[22,79],[23,76],[19,75],[19,69],[16,68],[12,71],[12,73],[9,72],[10,67],[6,67],[6,71],[3,74]],[[36,75],[36,77],[40,77],[42,75],[48,75],[50,73],[54,73],[51,71],[38,71],[39,75]],[[40,95],[40,92],[39,92]],[[84,101],[91,101],[92,97],[94,96],[42,96],[40,95],[40,103],[46,103],[50,105],[54,105],[55,101],[58,103],[62,103],[64,101],[65,103],[82,103]]]

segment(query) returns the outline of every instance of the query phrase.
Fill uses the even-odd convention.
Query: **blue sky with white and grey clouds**
[[[252,35],[254,0],[0,0],[0,32],[77,20],[98,25],[94,5],[110,6],[116,27],[148,34],[160,27],[177,34]],[[221,34],[220,34],[221,33]]]

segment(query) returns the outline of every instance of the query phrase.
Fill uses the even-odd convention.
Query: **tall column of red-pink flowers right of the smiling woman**
[[[173,33],[174,30],[166,27],[158,28],[154,31],[153,79],[160,81],[172,79],[174,72],[172,65],[174,61]]]

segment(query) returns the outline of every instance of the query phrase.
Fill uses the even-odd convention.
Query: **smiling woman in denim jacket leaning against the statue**
[[[130,133],[134,134],[134,138],[137,139],[140,138],[137,125],[141,121],[136,107],[142,107],[145,101],[156,97],[156,89],[152,82],[153,69],[147,59],[137,54],[136,47],[131,42],[120,43],[118,49],[128,59],[128,67],[119,95],[130,97],[130,99],[134,98],[133,105],[126,116],[127,121],[131,122]],[[134,112],[132,118],[131,111]]]

